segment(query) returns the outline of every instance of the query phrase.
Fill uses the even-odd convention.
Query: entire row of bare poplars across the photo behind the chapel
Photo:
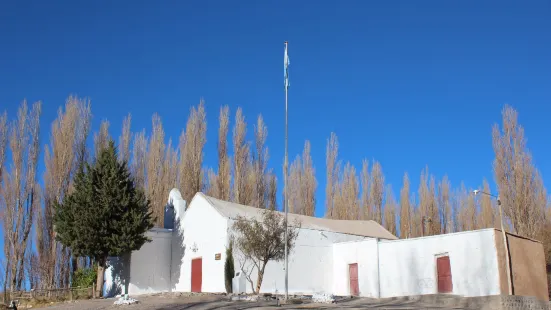
[[[77,169],[93,160],[110,140],[110,123],[101,122],[88,148],[92,109],[86,99],[71,96],[58,111],[44,148],[45,171],[39,182],[39,118],[41,104],[21,104],[17,117],[0,115],[0,214],[5,259],[2,284],[6,290],[31,287],[67,287],[78,267],[93,264],[72,255],[55,240],[53,208],[73,190]],[[277,208],[277,179],[269,169],[268,129],[262,116],[249,126],[241,109],[233,120],[227,106],[220,109],[218,163],[205,168],[207,116],[201,101],[190,109],[178,145],[167,138],[161,118],[152,117],[152,129],[132,130],[131,116],[122,122],[119,160],[126,162],[136,184],[151,201],[156,225],[163,223],[168,192],[179,188],[191,201],[198,191],[259,208]],[[508,229],[551,244],[551,208],[542,178],[532,163],[524,132],[514,109],[505,107],[503,124],[493,129],[494,179],[503,202]],[[252,128],[253,140],[247,139]],[[228,140],[231,139],[231,140]],[[495,200],[474,196],[460,183],[452,188],[444,176],[437,180],[425,167],[417,190],[403,176],[397,196],[386,184],[376,160],[364,160],[357,170],[339,159],[339,142],[332,133],[326,148],[325,216],[333,219],[374,220],[402,238],[496,227]],[[231,156],[230,156],[231,154]],[[483,180],[483,189],[490,184]],[[290,211],[313,216],[318,182],[309,141],[290,166]],[[34,225],[34,228],[33,228]],[[33,235],[35,232],[35,235]],[[34,243],[34,245],[33,245]],[[547,247],[548,249],[550,247]],[[551,251],[550,251],[551,252]]]

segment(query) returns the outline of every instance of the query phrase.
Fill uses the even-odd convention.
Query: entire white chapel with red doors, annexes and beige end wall
[[[238,216],[262,210],[197,193],[189,206],[170,193],[165,227],[148,232],[152,242],[126,258],[112,258],[104,295],[156,292],[226,292],[224,262]],[[275,211],[277,212],[277,211]],[[173,214],[173,217],[170,216]],[[396,297],[447,293],[462,296],[507,294],[502,233],[482,229],[398,239],[375,221],[331,220],[289,214],[301,223],[289,255],[289,293]],[[172,225],[174,223],[174,225]],[[516,295],[548,300],[545,257],[540,242],[508,234]],[[526,257],[526,253],[531,253]],[[234,249],[234,293],[251,293]],[[256,270],[253,271],[256,280]],[[284,262],[266,266],[261,293],[283,293]],[[253,283],[256,286],[256,283]]]

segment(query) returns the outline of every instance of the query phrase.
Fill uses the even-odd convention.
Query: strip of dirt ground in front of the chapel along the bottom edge
[[[443,305],[426,304],[407,300],[381,301],[369,298],[353,298],[341,300],[334,304],[289,304],[277,306],[277,301],[230,301],[224,295],[148,295],[136,297],[140,302],[134,305],[115,306],[116,299],[96,299],[67,302],[52,305],[43,309],[48,310],[99,310],[99,309],[128,309],[128,310],[180,310],[180,309],[464,309],[450,308]],[[22,308],[20,308],[22,309]]]

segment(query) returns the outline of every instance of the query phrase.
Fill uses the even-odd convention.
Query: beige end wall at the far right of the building
[[[507,270],[505,265],[505,250],[503,234],[496,229],[496,247],[500,287],[502,294],[507,294]],[[535,240],[507,234],[509,253],[511,255],[511,276],[513,278],[513,294],[535,296],[548,301],[547,272],[543,245]]]

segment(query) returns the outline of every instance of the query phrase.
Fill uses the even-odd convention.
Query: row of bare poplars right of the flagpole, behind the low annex
[[[517,112],[506,106],[502,116],[502,125],[496,124],[492,132],[493,168],[506,229],[544,239],[544,228],[551,227],[551,208],[543,180],[532,163]],[[379,162],[373,161],[369,170],[364,160],[358,174],[350,163],[343,167],[338,149],[338,138],[332,133],[326,149],[328,218],[374,220],[402,238],[499,227],[496,200],[488,195],[475,196],[463,183],[453,189],[447,176],[437,181],[427,166],[421,171],[417,192],[404,174],[397,202],[392,187],[385,186]],[[491,192],[486,180],[477,189]]]

